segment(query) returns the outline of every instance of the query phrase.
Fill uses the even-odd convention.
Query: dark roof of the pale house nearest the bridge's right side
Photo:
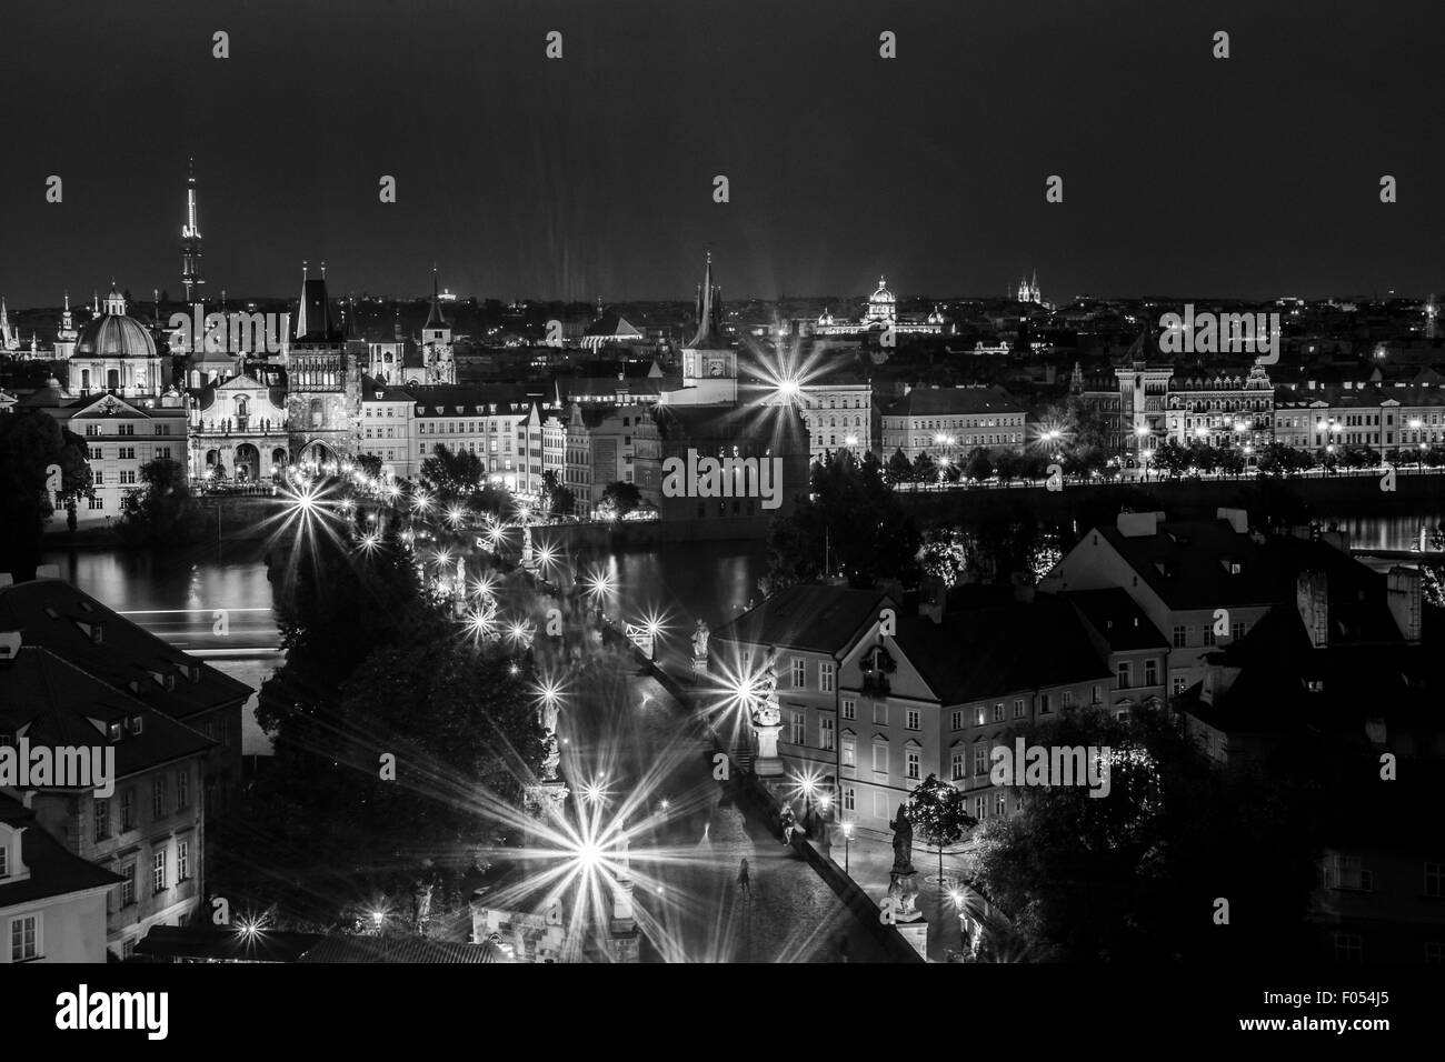
[[[887,600],[880,590],[795,585],[720,627],[714,637],[838,656]]]

